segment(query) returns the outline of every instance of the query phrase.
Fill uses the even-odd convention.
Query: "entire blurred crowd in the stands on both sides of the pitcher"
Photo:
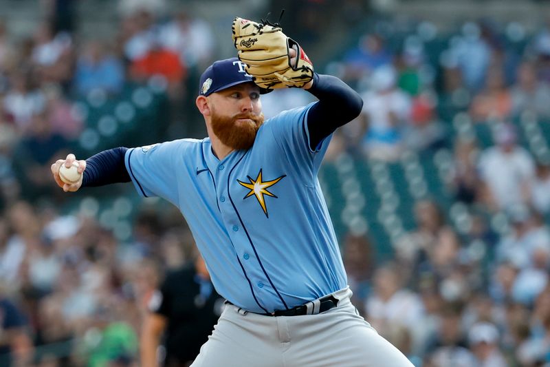
[[[137,366],[146,303],[162,274],[190,260],[192,238],[168,205],[144,205],[123,242],[86,211],[68,215],[50,165],[86,129],[74,101],[151,77],[170,100],[167,139],[184,132],[181,101],[194,99],[190,75],[219,56],[215,37],[187,12],[167,16],[162,1],[120,1],[117,34],[78,39],[70,7],[49,3],[26,38],[0,20],[0,365]],[[443,181],[470,222],[458,231],[428,193],[384,263],[369,233],[340,233],[355,304],[415,366],[550,366],[550,25],[527,34],[465,22],[443,35],[421,22],[397,36],[388,23],[327,65],[364,100],[327,162],[392,165],[446,149]],[[297,90],[263,97],[267,117],[309,101]],[[489,143],[472,133],[482,126]]]

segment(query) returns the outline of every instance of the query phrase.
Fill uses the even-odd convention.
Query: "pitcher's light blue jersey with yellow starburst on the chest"
[[[347,286],[317,172],[329,138],[309,149],[307,110],[270,118],[252,148],[214,156],[210,139],[126,151],[142,196],[159,196],[186,218],[220,295],[267,313]]]

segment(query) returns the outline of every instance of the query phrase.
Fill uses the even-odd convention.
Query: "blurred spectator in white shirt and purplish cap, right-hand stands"
[[[494,140],[496,145],[485,149],[478,162],[484,200],[492,209],[508,209],[525,201],[534,176],[534,160],[516,144],[512,125],[498,125]]]

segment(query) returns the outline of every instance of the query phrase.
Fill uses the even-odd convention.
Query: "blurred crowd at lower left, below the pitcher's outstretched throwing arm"
[[[14,366],[137,366],[147,303],[163,273],[192,260],[193,242],[170,210],[142,210],[133,234],[121,244],[95,218],[23,200],[6,211],[0,348]]]

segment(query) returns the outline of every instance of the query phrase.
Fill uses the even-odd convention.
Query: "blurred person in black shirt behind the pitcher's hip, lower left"
[[[149,313],[141,331],[142,366],[189,366],[199,355],[221,315],[223,298],[214,290],[201,256],[192,264],[168,273],[148,302]],[[164,338],[164,353],[157,353]],[[182,348],[184,346],[184,348]]]

